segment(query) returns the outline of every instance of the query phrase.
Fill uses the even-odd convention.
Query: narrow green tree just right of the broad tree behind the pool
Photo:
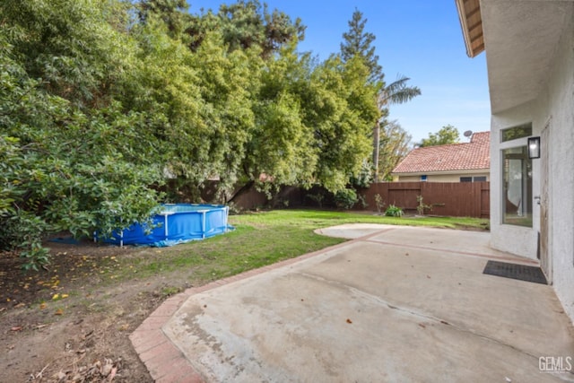
[[[301,100],[310,70],[309,55],[298,55],[295,42],[265,61],[253,101],[255,126],[243,161],[245,187],[256,186],[273,196],[282,185],[312,183],[317,150],[313,130],[303,121]]]

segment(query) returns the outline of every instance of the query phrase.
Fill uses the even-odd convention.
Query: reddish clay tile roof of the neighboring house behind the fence
[[[491,132],[474,133],[470,143],[413,149],[393,173],[430,173],[452,170],[489,170]]]

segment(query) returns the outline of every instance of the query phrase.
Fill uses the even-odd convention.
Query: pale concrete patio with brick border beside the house
[[[489,259],[535,265],[488,233],[320,233],[352,240],[164,302],[131,335],[153,379],[574,381],[556,371],[574,370],[574,333],[552,287],[483,274]]]

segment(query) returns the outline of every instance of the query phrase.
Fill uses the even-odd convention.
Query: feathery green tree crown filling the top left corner
[[[116,1],[5,0],[3,30],[39,86],[85,108],[106,105],[110,92],[132,69],[135,47],[116,30]]]

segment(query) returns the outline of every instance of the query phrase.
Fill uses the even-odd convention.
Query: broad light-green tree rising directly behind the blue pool
[[[224,196],[243,175],[246,145],[255,126],[253,96],[259,89],[258,48],[229,51],[217,31],[206,31],[192,51],[170,38],[165,25],[146,23],[139,31],[141,65],[130,108],[152,116],[150,128],[163,149],[161,161],[198,200],[208,179],[220,178]]]

